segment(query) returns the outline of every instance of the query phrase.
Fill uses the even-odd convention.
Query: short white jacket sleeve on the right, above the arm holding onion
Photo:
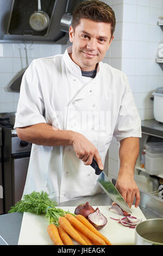
[[[113,134],[117,141],[128,137],[141,137],[141,119],[127,77],[125,88]]]

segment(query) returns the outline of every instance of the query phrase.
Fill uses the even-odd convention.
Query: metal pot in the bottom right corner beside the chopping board
[[[153,218],[137,224],[135,245],[163,245],[163,218]]]

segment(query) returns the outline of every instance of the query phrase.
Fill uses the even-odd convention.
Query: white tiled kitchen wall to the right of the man
[[[158,44],[163,42],[158,17],[163,16],[162,0],[108,0],[116,14],[115,38],[105,62],[127,74],[141,120],[152,119],[150,97],[163,86],[163,72],[156,63]],[[109,148],[109,176],[117,177],[120,144],[112,139]]]

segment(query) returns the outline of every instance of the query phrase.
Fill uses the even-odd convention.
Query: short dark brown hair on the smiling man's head
[[[79,25],[80,19],[90,19],[97,22],[110,23],[111,36],[114,34],[116,18],[114,10],[104,2],[91,0],[80,3],[73,11],[72,27]]]

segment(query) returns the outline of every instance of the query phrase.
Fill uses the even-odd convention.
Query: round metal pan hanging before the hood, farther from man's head
[[[38,10],[29,17],[29,25],[35,31],[43,31],[49,25],[49,16],[41,10],[41,0],[38,0]]]

